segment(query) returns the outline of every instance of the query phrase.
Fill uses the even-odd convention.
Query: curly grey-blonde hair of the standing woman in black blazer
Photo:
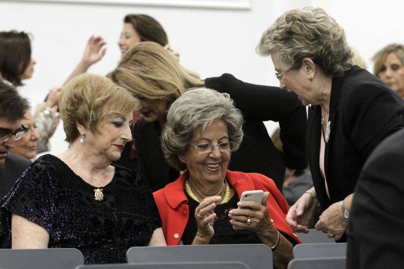
[[[264,31],[256,50],[279,60],[283,72],[300,68],[305,58],[331,77],[342,76],[352,66],[344,30],[320,8],[285,12]]]

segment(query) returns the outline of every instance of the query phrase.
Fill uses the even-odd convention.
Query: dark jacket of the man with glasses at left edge
[[[7,157],[0,166],[0,199],[9,193],[22,172],[31,165],[31,161],[13,153],[7,153]]]

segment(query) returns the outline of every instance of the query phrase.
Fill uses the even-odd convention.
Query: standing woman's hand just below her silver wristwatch
[[[348,220],[342,216],[341,206],[339,202],[336,202],[323,211],[315,228],[329,236],[334,236],[335,240],[339,240],[347,226]]]

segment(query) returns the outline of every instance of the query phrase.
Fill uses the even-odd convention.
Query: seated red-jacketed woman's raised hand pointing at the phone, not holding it
[[[221,200],[222,197],[220,196],[207,197],[203,199],[196,207],[195,220],[198,231],[195,239],[198,237],[197,241],[202,241],[207,244],[215,234],[213,223],[216,218],[216,213],[214,210],[216,205],[220,203]]]

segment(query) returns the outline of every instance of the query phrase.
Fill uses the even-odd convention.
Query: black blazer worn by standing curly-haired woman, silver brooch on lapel
[[[384,138],[403,128],[404,101],[384,82],[357,66],[332,79],[330,135],[325,146],[325,176],[320,174],[321,107],[309,107],[308,157],[321,207],[353,193],[372,150]]]

